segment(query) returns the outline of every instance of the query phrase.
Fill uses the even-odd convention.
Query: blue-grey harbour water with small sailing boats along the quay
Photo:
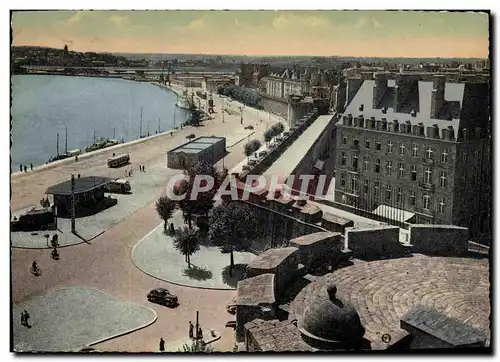
[[[188,114],[175,107],[176,95],[150,83],[122,79],[51,75],[12,76],[12,168],[19,164],[45,164],[65,151],[82,151],[96,138],[132,141],[139,138],[141,106],[142,134],[154,135],[178,126]]]

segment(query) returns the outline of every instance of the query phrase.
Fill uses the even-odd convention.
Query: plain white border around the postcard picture
[[[3,9],[4,4],[7,6],[5,9]],[[491,1],[484,1],[484,0],[476,0],[474,2],[459,2],[456,0],[441,0],[439,2],[436,2],[435,0],[420,0],[418,3],[404,3],[401,1],[377,1],[377,2],[371,2],[371,1],[349,1],[349,2],[344,2],[344,3],[338,3],[338,2],[333,2],[333,1],[324,1],[324,0],[308,0],[308,1],[302,1],[302,2],[291,2],[291,1],[284,1],[284,0],[274,0],[270,2],[269,0],[252,0],[252,1],[245,1],[245,2],[236,2],[234,0],[213,0],[210,2],[207,1],[201,1],[201,0],[184,0],[182,2],[176,2],[174,6],[168,6],[170,5],[170,2],[165,2],[165,1],[151,1],[151,0],[142,0],[140,2],[132,2],[132,1],[106,1],[103,2],[102,0],[87,0],[87,1],[72,1],[71,3],[68,3],[67,1],[62,1],[62,0],[46,0],[42,3],[37,2],[37,1],[10,1],[10,4],[7,2],[2,3],[2,14],[3,16],[0,17],[0,21],[2,22],[2,27],[4,31],[4,37],[5,37],[5,42],[4,44],[4,52],[2,54],[9,54],[9,47],[10,47],[10,24],[9,24],[9,17],[7,14],[8,9],[36,9],[43,7],[44,9],[166,9],[166,8],[178,8],[178,9],[304,9],[304,10],[312,10],[312,9],[332,9],[336,7],[337,9],[342,9],[342,5],[345,6],[345,8],[350,8],[350,9],[402,9],[402,6],[405,5],[413,5],[414,7],[418,7],[418,9],[498,9],[498,2],[494,2],[493,0]],[[167,6],[166,6],[167,5]],[[408,9],[408,7],[406,7]],[[493,11],[494,11],[493,10]],[[498,40],[498,26],[495,29],[495,38]],[[496,55],[496,54],[495,54]],[[498,59],[495,57],[495,68],[498,65],[497,63]],[[2,64],[2,70],[3,72],[1,73],[2,75],[2,82],[0,83],[2,85],[2,97],[0,98],[4,102],[4,107],[2,107],[2,110],[4,110],[4,117],[3,117],[3,127],[4,131],[0,132],[0,137],[1,137],[1,147],[2,151],[0,152],[0,162],[1,162],[1,170],[2,172],[2,178],[0,179],[1,182],[1,187],[2,187],[2,192],[1,192],[1,202],[0,204],[2,205],[2,215],[0,218],[0,222],[2,223],[2,227],[0,230],[2,230],[4,237],[2,238],[3,244],[4,244],[4,250],[2,250],[1,255],[3,256],[4,263],[2,263],[3,267],[1,268],[1,281],[2,281],[2,290],[4,291],[3,293],[3,298],[1,298],[1,303],[2,303],[2,315],[3,316],[10,316],[10,304],[9,300],[10,298],[8,297],[8,293],[10,293],[10,253],[8,252],[8,240],[9,240],[9,235],[8,235],[8,214],[9,214],[9,208],[7,205],[9,205],[9,179],[8,179],[8,172],[7,170],[10,167],[10,161],[9,161],[9,145],[10,145],[10,140],[9,140],[9,133],[8,129],[10,127],[9,125],[9,108],[10,108],[10,79],[9,79],[9,58],[4,55],[0,57],[0,62]],[[496,77],[495,77],[496,78]],[[496,79],[495,79],[496,80]],[[493,82],[495,84],[495,82]],[[499,107],[500,102],[498,102],[498,93],[495,95],[495,100],[494,103],[496,104],[496,108]],[[495,114],[496,116],[496,114]],[[497,117],[493,117],[496,119]],[[495,127],[495,141],[496,141],[496,136],[497,136],[497,130],[499,129],[499,126]],[[495,147],[495,151],[498,150],[498,146]],[[498,156],[497,152],[495,152],[495,156]],[[495,157],[495,160],[500,159],[500,157]],[[497,166],[497,162],[495,161],[495,166]],[[495,167],[496,168],[496,167]],[[496,192],[496,196],[498,196],[500,193]],[[495,201],[498,201],[495,199]],[[495,206],[498,204],[495,203]],[[495,209],[496,215],[495,215],[495,225],[500,225],[498,221],[500,221],[500,217],[498,216],[499,212],[498,210]],[[498,267],[496,268],[498,270]],[[496,280],[495,275],[495,280]],[[9,291],[9,292],[8,292]],[[495,299],[496,301],[496,299]],[[495,303],[495,307],[496,307]],[[498,311],[495,309],[495,311]],[[8,351],[10,349],[10,331],[9,328],[4,328],[1,329],[1,342],[2,342],[2,347],[1,347],[1,353],[2,357],[6,358],[5,360],[13,360],[14,355],[9,354]],[[498,333],[495,333],[495,336]],[[493,341],[493,345],[495,345],[495,341]],[[89,356],[90,357],[90,356]],[[166,356],[167,357],[167,356]],[[293,358],[293,355],[288,355],[286,358]],[[386,355],[382,356],[382,358],[387,357]],[[430,357],[430,356],[429,356]],[[447,357],[448,359],[456,359],[458,356],[453,356],[453,357]],[[4,360],[2,358],[2,360]],[[39,358],[39,357],[35,357]],[[58,359],[60,359],[59,357]],[[66,359],[68,357],[64,357]],[[117,359],[119,357],[111,357],[111,359]],[[138,357],[138,358],[144,358],[144,357]],[[173,357],[173,356],[168,356],[167,358],[175,358],[177,359],[178,357]],[[223,356],[214,356],[211,357],[212,360],[222,360],[226,359],[227,357]],[[234,357],[232,357],[234,358]],[[250,358],[250,360],[255,360],[255,361],[262,361],[262,360],[268,360],[270,359],[271,356],[266,355],[266,356],[260,356],[260,357],[253,357]],[[304,355],[297,355],[296,358],[300,358],[301,360],[307,359],[309,360],[310,358],[306,358]],[[343,357],[336,357],[336,356],[328,356],[328,358],[335,358],[336,360],[360,360],[363,357],[350,357],[350,356],[343,356]],[[417,358],[417,360],[424,360],[425,356],[422,356],[420,358]],[[442,357],[441,357],[442,358]],[[465,356],[465,358],[470,358],[468,356]]]

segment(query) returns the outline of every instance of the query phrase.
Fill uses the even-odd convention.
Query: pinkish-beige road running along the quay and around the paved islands
[[[221,100],[215,98],[216,109],[219,110]],[[234,102],[233,104],[236,104]],[[251,138],[263,139],[263,132],[268,123],[260,111],[246,107],[244,123],[255,127]],[[175,146],[186,142],[186,136],[195,133],[196,136],[226,136],[234,138],[234,133],[241,131],[239,115],[225,115],[224,123],[215,115],[215,119],[206,122],[204,127],[187,127],[173,136],[165,135],[152,138],[132,145],[123,145],[136,165],[149,166],[166,162],[166,152]],[[251,121],[251,122],[250,122]],[[276,118],[271,118],[272,124]],[[243,146],[240,142],[230,148],[230,154],[225,158],[227,168],[234,167],[245,159]],[[119,150],[113,151],[119,153]],[[85,175],[102,175],[122,177],[123,170],[110,170],[106,160],[111,151],[81,158],[79,162],[68,160],[57,167],[42,168],[27,174],[12,176],[11,209],[19,210],[31,205],[37,205],[44,196],[45,189],[53,184],[69,178],[71,173]],[[221,163],[221,162],[220,162]],[[172,170],[172,175],[178,170]],[[133,177],[133,176],[132,176]],[[168,181],[168,180],[166,180]],[[158,320],[151,326],[126,336],[96,345],[101,351],[157,351],[158,341],[163,337],[169,341],[184,338],[188,332],[188,322],[195,321],[196,311],[200,311],[200,323],[204,330],[214,328],[221,333],[222,338],[216,342],[216,350],[231,351],[234,344],[234,332],[225,328],[225,323],[234,320],[228,314],[225,306],[235,296],[235,291],[216,291],[180,287],[158,281],[137,269],[131,260],[131,249],[148,232],[153,230],[161,220],[154,208],[155,196],[164,194],[165,190],[151,190],[152,202],[115,225],[104,234],[94,239],[90,244],[83,243],[60,250],[61,259],[50,258],[49,250],[12,249],[12,297],[13,303],[22,303],[30,298],[43,295],[47,291],[68,286],[90,286],[100,289],[112,296],[146,304],[158,313]],[[182,257],[179,255],[179,257]],[[32,261],[36,260],[43,270],[40,277],[30,274]],[[180,306],[176,309],[150,304],[145,296],[155,287],[167,287],[176,294]],[[61,306],[64,307],[64,306]]]

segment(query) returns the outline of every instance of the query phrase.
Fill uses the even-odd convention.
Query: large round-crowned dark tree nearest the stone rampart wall
[[[255,238],[258,223],[247,205],[232,201],[215,207],[210,215],[208,236],[212,243],[230,253],[229,275],[234,267],[234,251],[247,250]]]

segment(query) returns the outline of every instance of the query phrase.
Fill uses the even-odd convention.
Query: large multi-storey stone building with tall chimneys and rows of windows
[[[398,222],[485,232],[489,85],[420,79],[375,73],[348,83],[350,102],[337,124],[335,201]]]

